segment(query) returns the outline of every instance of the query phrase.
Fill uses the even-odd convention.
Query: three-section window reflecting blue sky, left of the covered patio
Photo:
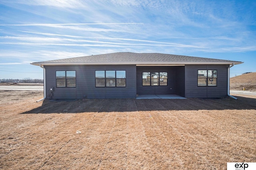
[[[95,71],[96,87],[126,87],[125,70]]]

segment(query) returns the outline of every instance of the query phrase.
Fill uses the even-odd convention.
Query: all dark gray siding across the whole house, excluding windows
[[[228,64],[186,66],[45,66],[46,98],[136,98],[136,94],[178,94],[186,98],[227,96]],[[76,70],[76,87],[56,88],[57,70]],[[95,70],[126,70],[126,87],[95,87]],[[217,86],[198,87],[197,70],[217,70]],[[168,86],[142,86],[142,72],[168,72]]]

